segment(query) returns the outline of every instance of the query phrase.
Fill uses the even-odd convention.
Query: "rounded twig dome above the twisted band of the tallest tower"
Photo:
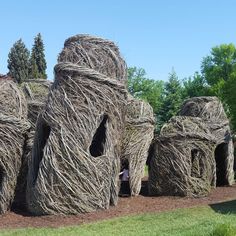
[[[78,34],[65,41],[58,62],[86,66],[111,79],[126,83],[126,63],[118,47],[109,40]]]

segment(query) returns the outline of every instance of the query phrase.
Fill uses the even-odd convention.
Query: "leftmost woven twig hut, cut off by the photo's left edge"
[[[11,207],[20,171],[25,136],[30,128],[23,93],[12,81],[0,80],[0,213]]]

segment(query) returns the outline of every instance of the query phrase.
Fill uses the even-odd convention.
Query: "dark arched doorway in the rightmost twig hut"
[[[216,186],[227,185],[226,178],[226,158],[228,155],[228,144],[221,143],[215,149],[215,161],[216,161]]]

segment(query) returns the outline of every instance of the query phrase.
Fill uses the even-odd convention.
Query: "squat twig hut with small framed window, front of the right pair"
[[[215,139],[200,118],[171,118],[153,145],[150,195],[199,197],[210,192],[215,185]]]

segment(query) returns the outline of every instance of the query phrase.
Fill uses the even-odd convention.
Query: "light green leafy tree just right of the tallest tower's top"
[[[161,95],[164,88],[163,81],[146,78],[146,72],[142,68],[131,67],[128,69],[128,90],[136,98],[147,101],[155,114],[161,106]]]

